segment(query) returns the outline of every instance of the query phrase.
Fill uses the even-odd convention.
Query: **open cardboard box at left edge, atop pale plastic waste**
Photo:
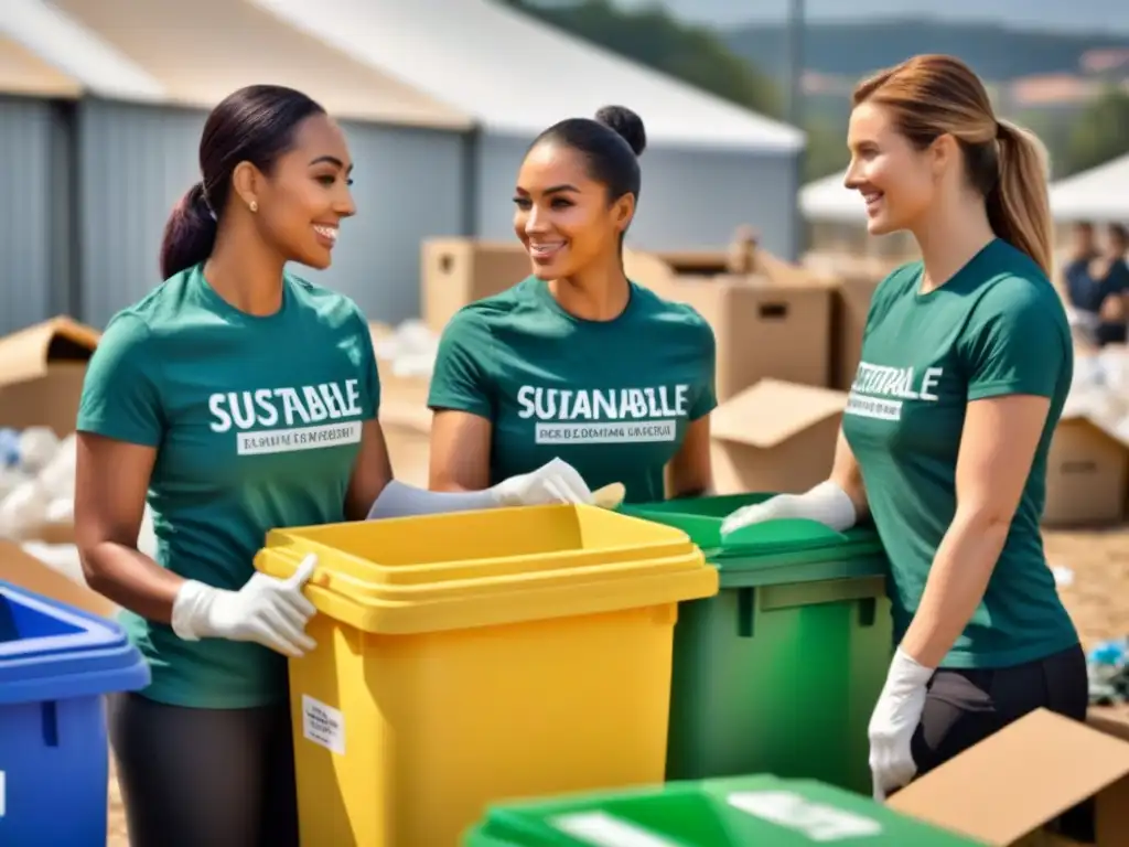
[[[86,364],[100,333],[55,317],[0,339],[0,426],[75,431]]]

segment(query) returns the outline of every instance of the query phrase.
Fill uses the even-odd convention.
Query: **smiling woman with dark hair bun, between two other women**
[[[542,132],[517,175],[533,273],[461,309],[431,378],[431,487],[472,491],[560,455],[625,500],[711,487],[715,344],[693,308],[630,281],[642,121],[606,106]]]

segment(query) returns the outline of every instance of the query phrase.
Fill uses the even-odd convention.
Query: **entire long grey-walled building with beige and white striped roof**
[[[511,238],[530,140],[605,103],[647,123],[634,246],[717,246],[738,224],[778,253],[798,243],[802,133],[485,0],[3,3],[0,53],[12,58],[0,63],[41,80],[36,99],[0,107],[18,116],[0,128],[3,149],[26,151],[0,163],[0,186],[12,187],[0,246],[20,251],[12,279],[44,280],[25,289],[42,300],[26,317],[6,309],[16,325],[62,311],[103,325],[156,285],[165,220],[199,178],[205,112],[252,82],[305,90],[341,120],[359,215],[333,268],[303,272],[374,320],[418,314],[421,239]],[[5,283],[0,303],[19,285]]]

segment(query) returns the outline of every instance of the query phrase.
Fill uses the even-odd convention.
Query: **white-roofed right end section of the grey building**
[[[474,232],[513,237],[510,198],[537,132],[605,104],[649,137],[636,247],[716,247],[752,224],[795,255],[798,130],[755,115],[492,0],[252,0],[349,54],[467,110]]]

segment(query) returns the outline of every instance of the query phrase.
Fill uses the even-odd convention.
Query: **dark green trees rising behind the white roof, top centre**
[[[552,8],[532,6],[523,0],[504,2],[760,114],[779,116],[781,113],[780,93],[771,79],[730,51],[712,30],[675,20],[662,7],[623,11],[610,0],[584,0]]]

